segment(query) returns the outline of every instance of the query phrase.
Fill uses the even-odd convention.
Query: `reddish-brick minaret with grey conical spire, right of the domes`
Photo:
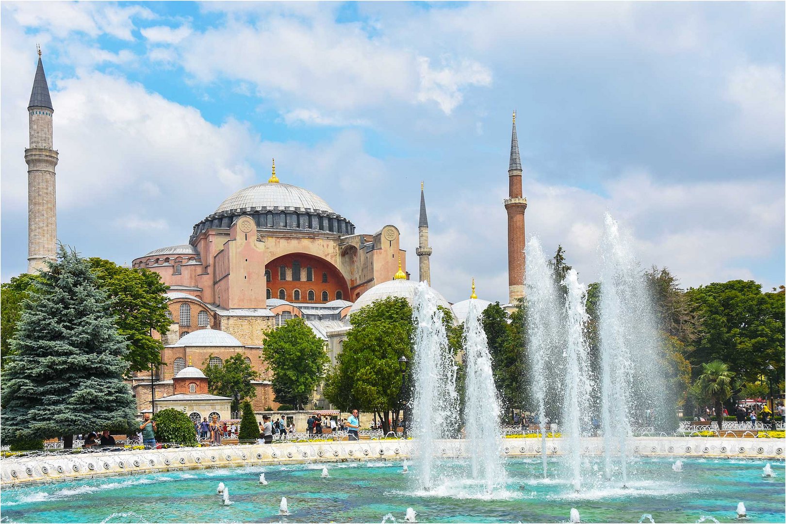
[[[513,112],[513,134],[510,140],[510,165],[508,167],[509,198],[505,199],[508,211],[508,295],[511,303],[524,296],[524,211],[527,199],[521,192],[521,157],[519,139],[516,137],[516,112]]]

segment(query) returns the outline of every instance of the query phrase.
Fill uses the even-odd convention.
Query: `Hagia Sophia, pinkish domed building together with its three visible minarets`
[[[56,258],[55,167],[53,112],[39,51],[38,68],[28,106],[30,148],[28,163],[28,273]],[[509,157],[508,213],[509,305],[523,297],[524,212],[522,168],[513,115]],[[199,219],[199,217],[194,217]],[[354,224],[308,189],[277,178],[275,162],[270,178],[240,189],[201,218],[187,244],[158,247],[134,258],[134,268],[161,276],[169,286],[171,319],[162,333],[163,365],[155,383],[156,410],[175,407],[195,420],[218,413],[230,417],[230,398],[207,393],[200,367],[220,366],[241,353],[257,372],[256,412],[276,409],[270,371],[262,356],[265,333],[300,317],[325,341],[331,362],[341,350],[354,311],[376,299],[401,296],[413,300],[420,281],[431,284],[428,216],[424,186],[418,221],[418,278],[410,280],[406,251],[399,245],[396,225],[380,225],[374,233],[359,233]],[[184,232],[185,237],[185,232]],[[152,239],[151,239],[152,240]],[[151,246],[154,247],[154,246]],[[442,306],[464,321],[471,300],[450,304],[436,291]],[[150,372],[130,379],[138,409],[151,409]],[[314,391],[313,409],[329,409]]]

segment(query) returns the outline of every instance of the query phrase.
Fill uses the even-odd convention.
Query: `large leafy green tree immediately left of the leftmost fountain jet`
[[[390,412],[402,408],[399,357],[413,360],[412,307],[401,297],[376,300],[352,313],[350,324],[325,398],[342,411],[375,412],[387,434]]]

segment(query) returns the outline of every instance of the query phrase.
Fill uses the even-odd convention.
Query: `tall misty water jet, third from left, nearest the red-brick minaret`
[[[553,271],[543,254],[537,236],[527,242],[527,280],[524,283],[527,297],[527,358],[530,364],[532,393],[541,427],[541,453],[543,476],[547,473],[545,447],[546,396],[549,376],[553,375],[553,356],[560,343],[561,309],[557,298]],[[561,352],[560,352],[561,354]]]

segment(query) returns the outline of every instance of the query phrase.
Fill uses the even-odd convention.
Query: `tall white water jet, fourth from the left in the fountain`
[[[584,339],[586,286],[578,283],[575,269],[568,271],[562,283],[567,288],[567,369],[563,401],[562,432],[567,434],[567,457],[571,466],[571,482],[578,491],[582,486],[582,427],[586,424],[587,400],[590,394],[586,369],[589,348]]]

